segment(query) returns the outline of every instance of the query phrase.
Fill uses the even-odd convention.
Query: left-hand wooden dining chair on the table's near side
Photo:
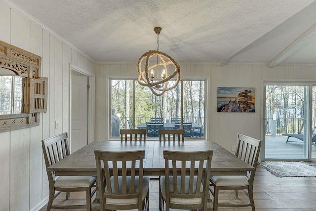
[[[149,211],[150,177],[143,176],[145,150],[126,152],[95,150],[94,155],[100,210]]]

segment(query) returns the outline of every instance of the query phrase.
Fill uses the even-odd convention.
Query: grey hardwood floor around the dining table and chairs
[[[315,163],[314,163],[315,164]],[[158,211],[158,181],[150,182],[150,211]],[[265,169],[257,168],[254,180],[254,200],[256,211],[315,211],[316,177],[276,177]],[[220,192],[221,201],[241,201],[246,199],[242,191],[234,199],[233,191]],[[85,203],[85,193],[71,193],[66,200],[65,193],[55,199],[57,203]],[[45,211],[43,207],[40,211]],[[222,211],[249,211],[251,208],[220,208]],[[53,209],[51,211],[54,211]],[[74,211],[74,210],[73,210]],[[82,210],[80,210],[82,211]],[[175,210],[174,210],[175,211]]]

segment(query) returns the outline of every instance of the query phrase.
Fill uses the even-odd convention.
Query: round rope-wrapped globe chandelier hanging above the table
[[[159,34],[161,32],[160,27],[154,28],[155,33],[157,34],[157,50],[150,50],[144,53],[138,60],[138,77],[137,81],[140,85],[148,86],[153,94],[160,96],[165,91],[173,89],[180,81],[180,66],[173,58],[166,53],[159,51]],[[150,65],[150,58],[157,56],[157,63]],[[146,58],[145,63],[143,60]],[[160,60],[159,60],[160,59]],[[144,70],[142,70],[142,64]],[[173,66],[172,66],[173,65]],[[168,74],[167,66],[173,69],[172,74]],[[172,71],[172,69],[169,69]],[[150,70],[150,73],[149,73]],[[156,74],[155,74],[156,73]],[[159,75],[161,73],[161,75]],[[157,78],[155,78],[157,75]],[[174,83],[169,82],[177,75],[177,79]],[[160,78],[159,78],[160,76]],[[169,82],[169,83],[168,83]]]

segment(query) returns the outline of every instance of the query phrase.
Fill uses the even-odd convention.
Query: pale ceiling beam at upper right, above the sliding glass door
[[[289,44],[284,50],[276,55],[268,64],[268,67],[276,67],[280,64],[286,57],[292,55],[295,51],[304,47],[305,42],[309,40],[312,36],[316,36],[316,23],[304,32],[300,37],[296,38],[291,44]]]

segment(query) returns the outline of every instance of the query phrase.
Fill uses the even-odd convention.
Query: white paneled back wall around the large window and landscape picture
[[[279,65],[268,68],[265,64],[241,65],[229,64],[217,67],[216,64],[181,63],[182,79],[192,77],[210,77],[210,108],[207,113],[207,139],[215,141],[232,150],[236,144],[237,133],[243,133],[261,139],[261,122],[255,121],[254,116],[260,116],[262,109],[261,79],[316,79],[316,66]],[[96,103],[95,137],[96,140],[106,140],[108,131],[108,93],[106,87],[107,76],[136,76],[137,64],[96,64]],[[315,80],[316,81],[316,80]],[[255,87],[255,113],[220,113],[217,112],[217,87]]]

